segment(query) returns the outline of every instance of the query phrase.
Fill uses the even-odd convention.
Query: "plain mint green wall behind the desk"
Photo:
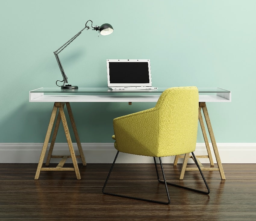
[[[106,59],[151,59],[154,86],[231,90],[231,103],[208,103],[216,140],[256,142],[255,8],[254,0],[3,1],[0,142],[43,142],[53,103],[29,103],[29,91],[56,87],[53,51],[89,19],[110,23],[114,33],[83,31],[60,54],[70,83],[105,87]],[[72,104],[81,142],[112,142],[114,117],[152,106]],[[57,142],[65,142],[63,129]]]

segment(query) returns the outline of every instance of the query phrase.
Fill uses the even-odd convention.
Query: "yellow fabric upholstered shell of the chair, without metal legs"
[[[155,107],[115,118],[115,148],[150,157],[195,151],[198,99],[197,87],[168,88]]]

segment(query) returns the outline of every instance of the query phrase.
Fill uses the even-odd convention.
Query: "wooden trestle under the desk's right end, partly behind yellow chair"
[[[215,154],[215,158],[216,158],[216,161],[217,161],[218,168],[214,168],[214,167],[206,168],[198,160],[198,158],[209,158],[211,166],[214,166],[212,155],[211,155],[211,150],[210,150],[210,146],[209,146],[209,142],[208,142],[208,138],[207,138],[205,127],[204,127],[203,118],[202,118],[202,115],[201,115],[201,109],[203,109],[205,122],[206,122],[208,132],[209,132],[209,135],[210,135],[210,139],[211,139],[211,143],[212,143],[212,146],[213,146],[213,150],[214,150],[214,154]],[[219,171],[221,179],[225,180],[226,179],[225,174],[224,174],[223,167],[222,167],[222,164],[221,164],[221,161],[220,161],[219,151],[218,151],[217,144],[216,144],[216,141],[215,141],[215,137],[214,137],[214,134],[213,134],[213,130],[212,130],[212,127],[211,127],[211,121],[210,121],[210,118],[209,118],[209,114],[208,114],[208,110],[207,110],[205,102],[199,102],[198,119],[199,119],[200,126],[201,126],[201,129],[202,129],[202,133],[203,133],[203,136],[204,136],[204,142],[205,142],[205,145],[206,145],[208,155],[195,156],[195,157],[196,157],[202,171]],[[177,155],[174,159],[173,166],[177,165],[179,158],[184,158],[183,165],[182,165],[182,168],[181,168],[181,173],[180,173],[180,180],[183,180],[185,171],[196,171],[196,170],[198,170],[197,167],[196,168],[195,167],[187,168],[188,159],[189,158],[193,159],[193,157],[189,156],[189,154],[185,154],[185,156],[184,155]]]

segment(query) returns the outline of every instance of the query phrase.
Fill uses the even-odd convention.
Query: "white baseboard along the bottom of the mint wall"
[[[38,163],[42,143],[0,143],[0,163]],[[210,144],[211,146],[211,144]],[[256,143],[217,143],[222,163],[256,163]],[[48,145],[49,147],[49,145]],[[73,144],[75,154],[79,155],[76,143]],[[113,143],[82,143],[86,163],[112,163],[117,153]],[[48,153],[48,151],[46,152]],[[214,151],[211,148],[214,158]],[[54,155],[70,155],[67,143],[56,143]],[[197,143],[196,155],[207,155],[204,143]],[[46,157],[45,157],[46,158]],[[60,159],[52,159],[58,163]],[[163,157],[163,163],[173,163],[174,157]],[[193,163],[191,159],[188,163]],[[81,163],[80,159],[77,159]],[[201,163],[209,163],[209,159],[200,159]],[[67,163],[72,163],[71,159]],[[116,163],[153,163],[152,157],[120,153]],[[179,159],[182,163],[182,159]]]

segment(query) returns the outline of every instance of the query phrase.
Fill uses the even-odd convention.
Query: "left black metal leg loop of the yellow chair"
[[[109,177],[110,177],[110,174],[111,174],[111,172],[112,172],[112,170],[113,170],[113,167],[114,167],[114,164],[115,164],[115,162],[116,162],[116,159],[117,159],[118,154],[119,154],[119,151],[117,151],[117,154],[116,154],[116,157],[115,157],[115,159],[114,159],[114,162],[113,162],[113,164],[112,164],[112,166],[111,166],[111,169],[110,169],[110,171],[109,171],[109,173],[108,173],[108,177],[107,177],[107,179],[106,179],[106,181],[105,181],[105,184],[104,184],[104,186],[103,186],[103,188],[102,188],[102,193],[107,194],[107,195],[111,195],[111,196],[120,196],[120,197],[124,197],[124,198],[128,198],[128,199],[137,199],[137,200],[142,200],[142,201],[147,201],[147,202],[154,202],[154,203],[161,203],[161,204],[170,204],[170,196],[169,196],[169,193],[168,193],[167,183],[166,183],[166,180],[165,180],[164,170],[163,170],[163,166],[162,166],[162,162],[161,162],[161,158],[160,158],[160,157],[159,157],[159,160],[160,160],[160,162],[161,162],[161,169],[162,169],[163,178],[164,178],[164,181],[162,181],[162,182],[165,183],[165,189],[166,189],[166,193],[167,193],[167,197],[168,197],[168,202],[162,202],[162,201],[151,200],[151,199],[143,199],[143,198],[139,198],[139,197],[125,196],[125,195],[120,195],[120,194],[114,194],[114,193],[107,193],[107,192],[105,192],[105,187],[106,187],[106,185],[107,185],[107,182],[108,182],[108,179],[109,179]],[[155,165],[156,165],[156,164],[155,164]]]

